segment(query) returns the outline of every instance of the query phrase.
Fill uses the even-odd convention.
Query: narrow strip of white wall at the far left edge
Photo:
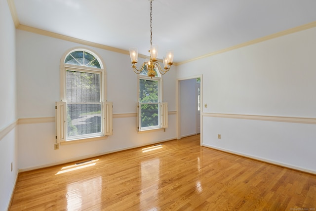
[[[0,0],[0,210],[7,210],[17,176],[15,27]],[[13,169],[11,171],[11,163]]]

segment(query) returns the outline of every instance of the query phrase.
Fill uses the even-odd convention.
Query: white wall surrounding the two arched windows
[[[82,46],[26,31],[17,30],[18,117],[54,117],[59,96],[59,65],[70,48]],[[85,46],[83,46],[85,47]],[[89,47],[102,57],[107,71],[107,100],[113,102],[114,114],[136,113],[137,75],[131,69],[129,55]],[[163,79],[163,101],[175,111],[175,71]],[[114,135],[107,139],[62,145],[54,150],[55,123],[20,124],[19,169],[32,169],[78,160],[126,148],[143,146],[176,137],[175,116],[169,115],[169,127],[137,133],[136,117],[114,118]]]

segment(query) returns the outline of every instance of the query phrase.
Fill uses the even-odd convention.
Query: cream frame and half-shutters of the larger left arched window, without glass
[[[68,55],[76,51],[83,51],[91,54],[96,58],[100,64],[100,68],[89,67],[85,65],[67,64],[65,60]],[[97,73],[100,75],[100,103],[101,103],[101,123],[102,129],[99,133],[89,133],[86,135],[77,135],[75,137],[68,137],[67,134],[67,95],[66,95],[66,72],[67,71],[85,72],[85,73]],[[56,102],[56,142],[66,142],[75,140],[98,140],[104,139],[107,135],[113,134],[112,123],[112,102],[107,102],[107,90],[106,90],[106,70],[104,68],[104,62],[101,57],[93,50],[76,47],[72,48],[62,56],[60,61],[60,101]]]

